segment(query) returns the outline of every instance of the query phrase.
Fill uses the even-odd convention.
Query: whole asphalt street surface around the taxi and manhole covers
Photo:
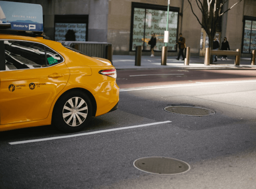
[[[0,188],[256,188],[254,71],[119,70],[118,109],[96,117],[85,130],[64,134],[41,126],[1,132]],[[164,110],[176,105],[215,114]],[[143,157],[175,158],[191,169],[147,173],[133,165]]]

